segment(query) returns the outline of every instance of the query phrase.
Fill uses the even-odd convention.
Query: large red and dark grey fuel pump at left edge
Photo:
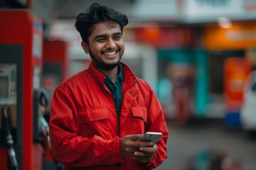
[[[42,169],[41,19],[28,10],[0,11],[1,169]]]

